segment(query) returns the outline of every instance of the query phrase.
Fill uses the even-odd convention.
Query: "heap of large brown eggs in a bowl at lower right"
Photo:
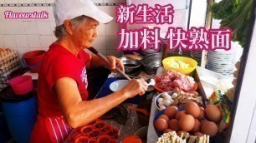
[[[194,101],[188,101],[185,108],[167,106],[156,114],[153,123],[158,136],[176,131],[177,136],[191,136],[199,141],[203,136],[216,136],[221,119],[222,114],[217,106],[207,105],[203,108]]]

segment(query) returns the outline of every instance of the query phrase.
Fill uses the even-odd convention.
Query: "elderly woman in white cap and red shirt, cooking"
[[[54,16],[58,40],[46,52],[39,72],[39,114],[31,142],[62,142],[72,128],[95,121],[127,98],[143,95],[147,89],[146,81],[133,79],[120,91],[86,101],[86,69],[109,65],[84,52],[84,48],[92,47],[99,22],[110,22],[112,17],[90,0],[55,0]],[[118,58],[107,58],[112,71],[115,67],[124,70]]]

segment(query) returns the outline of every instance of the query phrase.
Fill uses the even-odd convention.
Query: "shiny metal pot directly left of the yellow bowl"
[[[149,75],[156,74],[157,68],[161,67],[162,52],[151,54],[141,59],[143,71]]]

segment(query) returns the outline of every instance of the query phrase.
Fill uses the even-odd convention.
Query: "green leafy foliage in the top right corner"
[[[222,19],[221,27],[229,27],[233,30],[232,41],[238,41],[244,47],[248,21],[253,0],[222,0],[213,3],[212,17]]]

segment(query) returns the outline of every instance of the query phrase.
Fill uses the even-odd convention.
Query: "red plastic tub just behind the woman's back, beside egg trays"
[[[32,73],[38,73],[46,51],[37,50],[23,54],[23,63]]]

